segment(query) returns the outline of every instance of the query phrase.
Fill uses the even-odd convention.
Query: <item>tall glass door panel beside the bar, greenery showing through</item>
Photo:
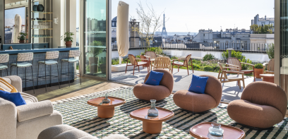
[[[84,74],[106,78],[107,0],[84,0]]]

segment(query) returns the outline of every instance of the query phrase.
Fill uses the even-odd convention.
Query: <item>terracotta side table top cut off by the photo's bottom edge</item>
[[[212,127],[211,123],[212,122],[205,122],[193,126],[192,128],[190,128],[189,131],[190,135],[198,139],[209,139],[212,137],[216,137],[210,135],[209,133],[209,128]],[[235,128],[233,126],[226,126],[221,124],[221,128],[224,130],[223,133],[224,139],[244,139],[246,136],[244,131],[242,131],[239,128]]]

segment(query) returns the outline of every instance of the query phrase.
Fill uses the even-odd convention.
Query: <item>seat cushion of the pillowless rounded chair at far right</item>
[[[227,112],[234,121],[256,128],[269,128],[284,119],[282,113],[274,107],[253,104],[242,99],[230,102]]]

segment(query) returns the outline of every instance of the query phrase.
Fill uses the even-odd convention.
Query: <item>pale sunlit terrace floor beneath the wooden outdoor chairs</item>
[[[138,83],[143,83],[145,76],[147,75],[147,68],[140,68],[140,73],[135,71],[133,75],[133,71],[124,72],[112,72],[112,80],[121,82],[121,83],[129,83],[131,85],[136,85]],[[188,87],[191,83],[192,79],[192,71],[189,71],[190,75],[187,74],[187,70],[180,69],[177,72],[177,69],[174,68],[174,92],[178,90],[188,90]],[[206,71],[194,71],[194,75],[213,75],[217,78],[218,73],[206,72]],[[236,76],[236,75],[229,75],[229,77]],[[241,76],[241,75],[240,75]],[[245,85],[253,82],[253,77],[244,75]],[[260,78],[256,78],[256,81],[262,81]],[[222,101],[223,102],[231,102],[234,99],[240,99],[242,91],[243,91],[243,84],[241,83],[241,90],[239,86],[236,86],[236,82],[224,83],[222,84],[223,93],[222,93]]]

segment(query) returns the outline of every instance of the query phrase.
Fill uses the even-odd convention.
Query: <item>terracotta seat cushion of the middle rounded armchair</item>
[[[188,90],[177,91],[173,96],[173,100],[178,107],[194,112],[213,109],[217,104],[210,95],[189,92]]]

